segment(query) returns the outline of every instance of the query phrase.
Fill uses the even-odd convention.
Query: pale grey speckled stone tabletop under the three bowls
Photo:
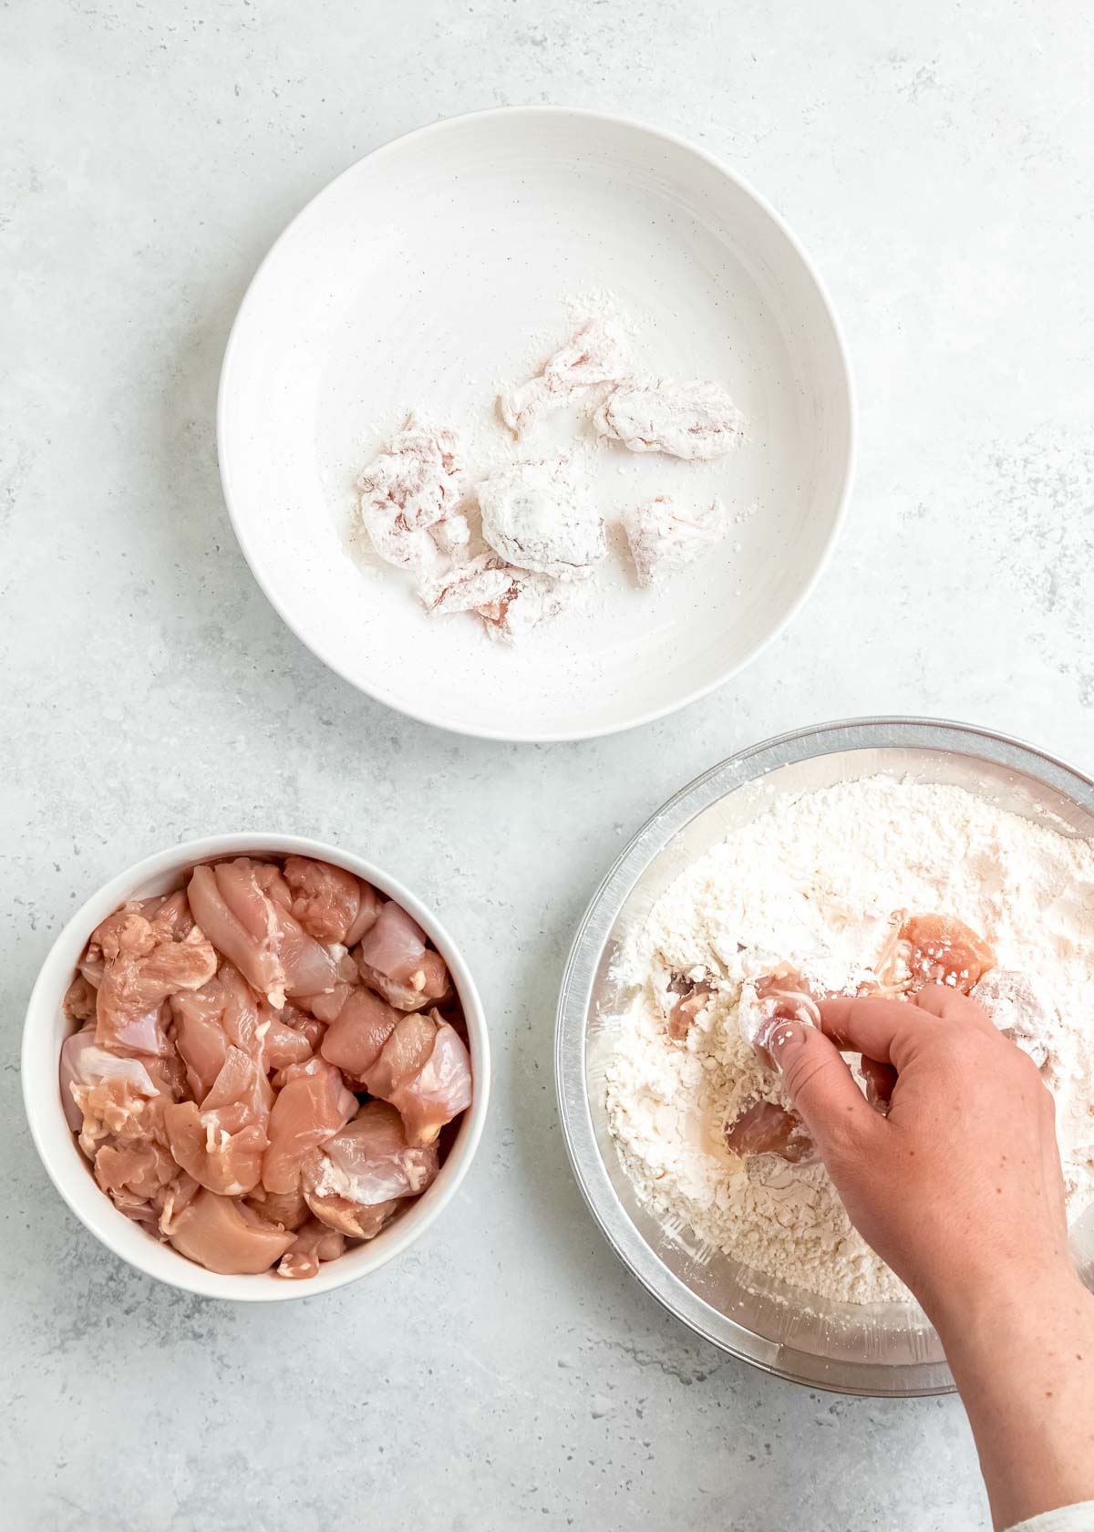
[[[987,723],[1094,764],[1094,20],[1082,6],[8,0],[0,8],[0,1520],[20,1532],[971,1532],[953,1399],[807,1393],[693,1339],[567,1169],[564,954],[621,841],[824,717]],[[617,110],[786,214],[861,394],[846,536],[742,679],[602,743],[506,748],[329,676],[236,548],[213,403],[244,288],[336,172],[432,118]],[[493,1112],[455,1206],[328,1298],[187,1299],[107,1255],[25,1131],[52,935],[192,833],[280,827],[444,912]]]

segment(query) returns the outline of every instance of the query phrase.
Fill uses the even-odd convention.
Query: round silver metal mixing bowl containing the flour
[[[689,1230],[662,1223],[639,1204],[608,1132],[602,1088],[610,1019],[628,1000],[628,980],[613,973],[613,959],[673,879],[772,801],[878,774],[965,787],[1065,835],[1094,838],[1094,781],[987,729],[864,719],[757,745],[671,798],[598,889],[562,980],[555,1068],[570,1160],[593,1216],[634,1276],[677,1319],[725,1351],[797,1383],[909,1397],[953,1388],[922,1313],[912,1304],[829,1304],[729,1256],[708,1258]],[[1094,1209],[1073,1229],[1073,1253],[1094,1285]]]

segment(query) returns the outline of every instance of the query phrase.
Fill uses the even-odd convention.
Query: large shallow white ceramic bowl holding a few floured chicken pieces
[[[642,372],[722,380],[749,434],[708,464],[593,453],[602,509],[719,495],[746,519],[663,590],[637,590],[613,548],[587,608],[516,650],[472,617],[427,617],[406,576],[362,567],[355,475],[411,408],[464,429],[489,469],[512,450],[500,380],[568,339],[568,299],[605,291]],[[293,631],[380,702],[504,740],[627,729],[748,665],[832,548],[853,437],[832,306],[772,208],[679,138],[550,107],[421,129],[310,202],[244,299],[218,411],[236,535]]]

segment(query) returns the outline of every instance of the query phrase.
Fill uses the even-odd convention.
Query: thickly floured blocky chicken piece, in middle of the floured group
[[[607,553],[584,473],[565,453],[513,463],[478,486],[483,536],[507,564],[552,579],[584,579]]]

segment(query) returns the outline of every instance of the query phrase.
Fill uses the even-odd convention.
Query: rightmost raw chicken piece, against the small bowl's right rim
[[[365,1086],[398,1109],[409,1143],[427,1144],[470,1105],[470,1059],[460,1034],[437,1011],[414,1011],[383,1045]]]

